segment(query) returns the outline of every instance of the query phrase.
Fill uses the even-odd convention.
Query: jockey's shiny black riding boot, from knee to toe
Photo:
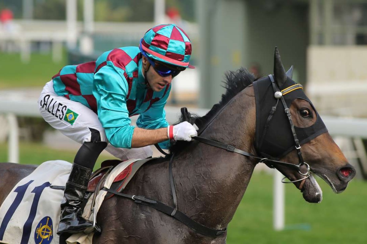
[[[95,161],[106,146],[106,142],[86,142],[76,154],[69,179],[65,185],[58,235],[78,233],[86,229],[92,230],[93,222],[81,217],[83,211],[80,205],[84,199]],[[101,232],[101,228],[95,225],[94,231]]]

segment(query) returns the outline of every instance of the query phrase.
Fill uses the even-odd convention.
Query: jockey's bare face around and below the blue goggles
[[[161,91],[166,88],[167,85],[172,82],[172,75],[169,76],[160,76],[150,65],[148,59],[143,56],[143,73],[146,71],[146,79],[148,80],[148,84],[153,91]]]

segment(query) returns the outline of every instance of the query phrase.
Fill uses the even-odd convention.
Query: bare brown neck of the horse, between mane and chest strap
[[[253,153],[255,100],[252,87],[238,94],[201,136]],[[179,156],[180,208],[200,223],[224,228],[246,191],[255,163],[243,155],[198,143]],[[184,202],[187,202],[184,204]],[[195,207],[193,207],[195,206]]]

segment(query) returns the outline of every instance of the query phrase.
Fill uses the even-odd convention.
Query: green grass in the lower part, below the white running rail
[[[50,149],[40,144],[21,143],[20,161],[25,164],[63,159],[72,161],[75,152]],[[98,164],[103,159],[100,157]],[[0,162],[7,161],[7,146],[0,144]],[[228,226],[228,244],[365,244],[367,243],[367,182],[352,180],[342,194],[334,194],[324,181],[319,204],[305,202],[302,194],[286,185],[286,229],[272,227],[273,178],[254,173],[246,194]]]

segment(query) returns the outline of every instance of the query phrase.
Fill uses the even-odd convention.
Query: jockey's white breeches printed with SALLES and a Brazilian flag
[[[70,139],[82,144],[91,140],[95,141],[96,137],[99,140],[100,136],[100,141],[108,143],[98,116],[80,102],[55,94],[52,80],[43,87],[38,105],[43,119]],[[108,144],[105,150],[123,161],[153,155],[150,146],[126,149]]]

